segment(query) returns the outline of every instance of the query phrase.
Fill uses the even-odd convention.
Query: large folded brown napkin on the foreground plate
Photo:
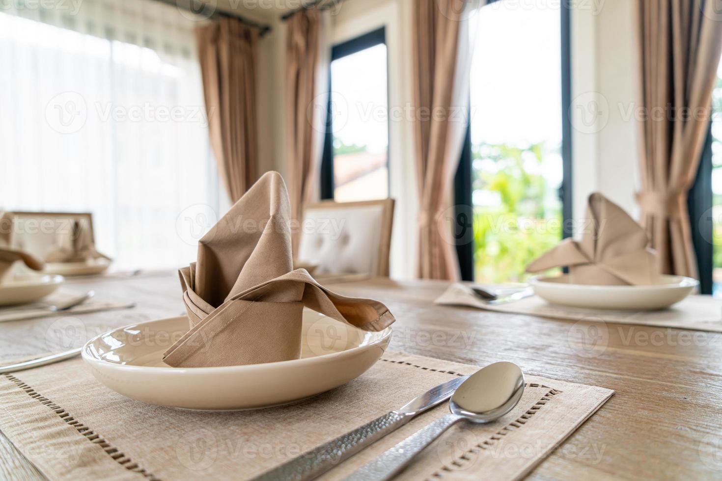
[[[367,331],[393,323],[380,302],[339,296],[292,269],[286,185],[267,172],[201,239],[196,262],[180,270],[191,329],[163,361],[204,367],[300,358],[303,306]]]

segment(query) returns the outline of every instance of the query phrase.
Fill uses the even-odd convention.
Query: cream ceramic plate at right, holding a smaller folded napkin
[[[586,309],[625,309],[651,311],[682,301],[699,282],[680,275],[663,275],[653,286],[586,286],[570,284],[568,275],[529,280],[534,294],[552,304]]]

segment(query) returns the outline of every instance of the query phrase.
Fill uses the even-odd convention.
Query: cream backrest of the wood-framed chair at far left
[[[75,221],[81,221],[93,236],[92,214],[87,212],[13,212],[12,246],[45,259],[56,245],[58,234],[72,232]]]

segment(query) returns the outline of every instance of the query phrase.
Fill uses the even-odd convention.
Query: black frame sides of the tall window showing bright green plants
[[[489,0],[487,5],[503,0]],[[561,61],[562,61],[562,186],[559,189],[559,197],[562,200],[562,238],[573,235],[573,185],[572,185],[572,122],[570,119],[570,107],[572,105],[572,69],[571,69],[571,15],[570,2],[561,2]],[[483,9],[484,7],[482,7]],[[482,10],[483,11],[483,10]],[[456,177],[454,179],[454,203],[456,204],[456,220],[461,226],[471,225],[473,229],[473,218],[469,219],[470,213],[474,212],[474,202],[471,198],[473,192],[472,182],[474,181],[471,169],[471,116],[469,125],[466,128],[466,138],[461,149]],[[465,227],[466,228],[466,227]],[[458,265],[461,279],[474,281],[474,236],[462,236],[470,239],[469,242],[456,244]]]

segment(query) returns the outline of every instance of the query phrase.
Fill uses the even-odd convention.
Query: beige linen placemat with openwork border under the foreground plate
[[[147,405],[95,381],[82,360],[0,376],[0,430],[51,480],[248,479],[478,366],[386,353],[355,381],[266,410],[196,412]],[[519,405],[488,425],[462,423],[401,480],[523,477],[612,391],[526,376]],[[323,479],[350,474],[448,412],[412,420]]]

